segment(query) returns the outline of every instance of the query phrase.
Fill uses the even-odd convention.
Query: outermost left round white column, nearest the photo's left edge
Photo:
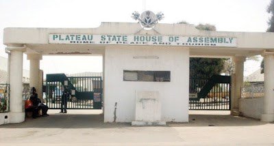
[[[22,102],[23,51],[10,50],[10,123],[25,121]]]

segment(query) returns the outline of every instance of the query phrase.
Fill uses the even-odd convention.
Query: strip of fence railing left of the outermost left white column
[[[10,111],[10,85],[0,84],[0,113]]]

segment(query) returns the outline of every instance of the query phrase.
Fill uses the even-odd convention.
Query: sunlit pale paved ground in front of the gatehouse
[[[103,123],[101,111],[77,112],[50,111],[49,117],[0,126],[0,145],[274,145],[274,123],[222,113],[190,115],[189,123],[132,127]]]

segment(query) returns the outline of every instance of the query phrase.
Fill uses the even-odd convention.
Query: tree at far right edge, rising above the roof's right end
[[[271,0],[266,12],[271,14],[271,17],[269,18],[269,28],[266,30],[267,32],[274,32],[274,0]],[[261,74],[264,73],[264,59],[262,59],[261,63]]]

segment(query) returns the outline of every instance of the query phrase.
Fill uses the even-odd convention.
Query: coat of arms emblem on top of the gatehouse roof
[[[145,28],[152,28],[154,27],[162,18],[164,18],[164,14],[159,12],[158,14],[154,14],[151,11],[142,12],[139,14],[138,12],[132,13],[132,18],[134,20],[139,20],[140,25]]]

